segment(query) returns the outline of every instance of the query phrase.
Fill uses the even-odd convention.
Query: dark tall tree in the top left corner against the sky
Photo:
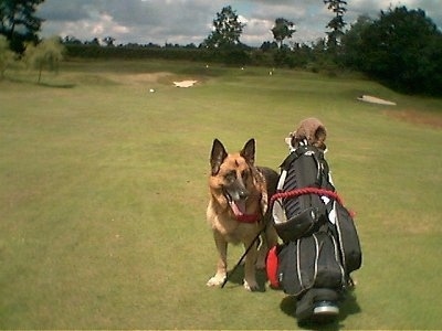
[[[0,34],[12,51],[23,53],[25,42],[36,42],[42,19],[35,17],[36,7],[44,0],[0,0]]]

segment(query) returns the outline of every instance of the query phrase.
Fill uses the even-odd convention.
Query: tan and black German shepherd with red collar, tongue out
[[[220,286],[225,280],[228,243],[242,243],[244,248],[249,247],[265,228],[260,249],[254,243],[245,256],[244,288],[256,290],[255,268],[265,267],[267,250],[277,242],[267,203],[275,193],[278,174],[272,169],[255,167],[254,162],[254,139],[235,153],[228,153],[220,140],[213,140],[207,220],[213,229],[219,260],[217,274],[209,279],[208,286]]]

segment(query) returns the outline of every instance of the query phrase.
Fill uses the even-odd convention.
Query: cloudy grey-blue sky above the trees
[[[361,14],[377,19],[381,10],[406,6],[422,9],[442,28],[441,0],[347,0],[344,20],[349,28]],[[218,12],[231,6],[245,23],[240,41],[260,46],[273,41],[275,19],[295,23],[292,42],[309,43],[325,38],[334,17],[323,0],[45,0],[36,15],[44,19],[42,36],[70,35],[81,41],[106,36],[115,44],[166,43],[197,46],[211,33]]]

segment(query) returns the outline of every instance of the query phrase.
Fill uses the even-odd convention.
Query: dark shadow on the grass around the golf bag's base
[[[296,310],[296,299],[294,297],[287,296],[285,297],[280,305],[281,310],[295,318],[295,310]],[[299,328],[308,329],[308,330],[341,330],[345,328],[345,319],[350,314],[360,313],[361,309],[356,300],[356,295],[352,290],[349,290],[346,293],[344,301],[340,305],[340,312],[339,317],[327,324],[314,323],[314,322],[304,322],[298,323]]]

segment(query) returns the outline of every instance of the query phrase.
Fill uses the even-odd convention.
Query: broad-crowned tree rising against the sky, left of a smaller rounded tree
[[[241,44],[240,36],[245,24],[239,21],[236,11],[231,6],[224,7],[213,20],[213,31],[204,40],[209,49],[229,49]]]

